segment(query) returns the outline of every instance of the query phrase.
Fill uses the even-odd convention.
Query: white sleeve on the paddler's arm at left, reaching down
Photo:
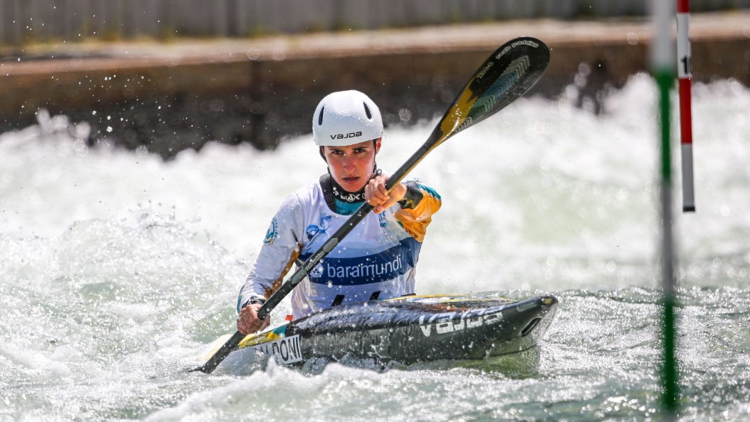
[[[251,301],[265,301],[284,282],[302,249],[304,216],[296,194],[287,196],[271,220],[263,247],[237,298],[237,312]]]

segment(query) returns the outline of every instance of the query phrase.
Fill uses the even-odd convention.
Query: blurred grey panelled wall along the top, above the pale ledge
[[[750,7],[750,0],[691,0],[694,12],[743,7]],[[90,37],[246,37],[646,13],[649,0],[0,0],[0,44]]]

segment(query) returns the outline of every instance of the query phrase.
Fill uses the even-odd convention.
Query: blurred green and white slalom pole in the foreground
[[[674,51],[670,28],[674,3],[653,0],[654,37],[651,67],[658,85],[658,131],[661,137],[661,282],[662,282],[662,361],[661,410],[665,421],[676,421],[679,410],[679,374],[676,361],[676,255],[672,232],[672,165],[670,153],[670,88],[674,84]]]

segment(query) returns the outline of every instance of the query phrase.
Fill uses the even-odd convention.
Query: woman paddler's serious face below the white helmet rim
[[[347,192],[356,192],[368,183],[373,175],[375,154],[380,151],[380,138],[347,146],[324,146],[331,175]]]

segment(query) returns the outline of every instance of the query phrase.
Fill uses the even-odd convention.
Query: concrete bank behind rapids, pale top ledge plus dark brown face
[[[76,1],[83,0],[60,3]],[[166,13],[160,8],[166,2],[127,0],[131,2],[141,4],[145,14]],[[102,0],[96,10],[125,3]],[[441,4],[449,3],[431,4],[437,13]],[[21,4],[36,3],[17,0],[13,7]],[[292,0],[262,5],[280,4],[290,7]],[[410,3],[401,2],[405,4]],[[495,5],[523,4],[530,3],[508,0]],[[299,13],[292,10],[289,16]],[[92,13],[100,16],[99,11]],[[169,13],[175,21],[192,16],[174,7]],[[702,15],[696,13],[691,20],[694,81],[733,78],[750,85],[750,10]],[[128,19],[138,22],[134,16]],[[194,25],[209,28],[216,22],[212,19],[206,15]],[[226,31],[236,28],[233,25],[227,23]],[[49,52],[38,50],[45,46],[11,47],[17,55],[0,58],[0,132],[34,124],[37,110],[46,109],[88,122],[91,145],[145,146],[163,157],[201,148],[208,141],[275,148],[285,136],[310,132],[311,110],[323,95],[350,88],[370,94],[386,124],[409,124],[444,112],[476,66],[499,43],[519,34],[539,37],[552,50],[547,73],[529,94],[556,97],[573,82],[579,66],[587,65],[592,69],[589,82],[597,79],[598,85],[586,85],[582,93],[597,97],[605,84],[619,87],[632,74],[648,71],[649,28],[649,19],[545,19],[243,40],[58,43]]]

